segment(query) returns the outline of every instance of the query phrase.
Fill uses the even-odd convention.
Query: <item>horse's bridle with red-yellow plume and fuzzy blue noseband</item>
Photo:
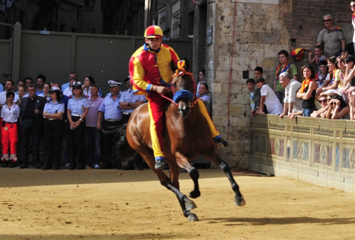
[[[196,83],[195,83],[195,80],[193,79],[192,73],[191,72],[187,72],[186,69],[184,68],[184,66],[185,66],[185,61],[184,60],[178,61],[177,62],[177,69],[175,70],[175,73],[172,75],[172,77],[174,77],[174,76],[183,76],[185,74],[190,75],[191,78],[192,78],[193,93],[191,93],[188,90],[184,90],[184,89],[178,90],[178,91],[175,92],[174,86],[171,85],[172,94],[173,94],[172,100],[177,105],[176,102],[180,98],[187,98],[190,101],[190,107],[193,107],[196,104],[197,100],[198,100],[197,96],[196,96]]]

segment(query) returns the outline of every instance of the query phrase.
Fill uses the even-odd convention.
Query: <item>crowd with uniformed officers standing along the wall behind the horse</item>
[[[124,79],[125,90],[120,89],[122,83],[118,80],[109,80],[110,92],[103,98],[93,76],[83,77],[82,83],[76,72],[70,72],[68,78],[60,85],[46,82],[46,77],[39,74],[35,85],[31,77],[26,77],[16,82],[16,92],[14,82],[6,81],[5,90],[0,92],[1,166],[27,168],[31,154],[33,168],[58,170],[62,153],[64,168],[70,170],[132,170],[134,163],[142,170],[147,166],[136,154],[122,167],[112,150],[118,140],[112,127],[127,123],[133,110],[146,101],[144,95],[133,94],[130,77]],[[198,87],[196,96],[209,102],[203,69]],[[45,160],[40,161],[44,149]]]

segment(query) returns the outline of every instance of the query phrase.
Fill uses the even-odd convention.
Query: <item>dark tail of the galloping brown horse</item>
[[[116,144],[116,152],[117,157],[121,161],[127,161],[132,159],[133,156],[137,153],[128,143],[126,137],[126,127],[127,124],[123,124],[122,126],[118,127],[117,134],[119,134],[119,140]]]

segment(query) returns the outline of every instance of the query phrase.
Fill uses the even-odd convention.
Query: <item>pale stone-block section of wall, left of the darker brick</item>
[[[283,14],[289,13],[287,9],[291,9],[291,4],[236,3],[229,122],[228,74],[234,2],[218,0],[208,4],[207,8],[207,27],[214,24],[213,44],[207,46],[210,73],[207,79],[211,83],[213,121],[223,138],[227,138],[229,124],[231,143],[228,150],[221,149],[220,152],[224,159],[228,154],[230,166],[246,168],[250,147],[250,100],[242,72],[247,71],[249,77],[253,77],[253,69],[262,66],[265,79],[269,84],[272,83],[272,75],[278,64],[277,52],[290,46],[289,33],[281,19]],[[208,15],[209,11],[215,17]],[[215,21],[208,21],[208,17]]]

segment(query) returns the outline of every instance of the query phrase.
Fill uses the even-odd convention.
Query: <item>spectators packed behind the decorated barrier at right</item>
[[[351,2],[350,7],[354,12],[355,27],[355,2]],[[289,119],[297,115],[355,119],[355,56],[345,52],[343,32],[333,25],[332,16],[325,14],[323,22],[314,55],[312,50],[308,51],[309,64],[300,68],[300,76],[296,66],[289,62],[286,50],[277,54],[279,65],[276,66],[273,89],[265,83],[262,67],[254,69],[254,79],[246,80],[251,116],[269,113]]]

